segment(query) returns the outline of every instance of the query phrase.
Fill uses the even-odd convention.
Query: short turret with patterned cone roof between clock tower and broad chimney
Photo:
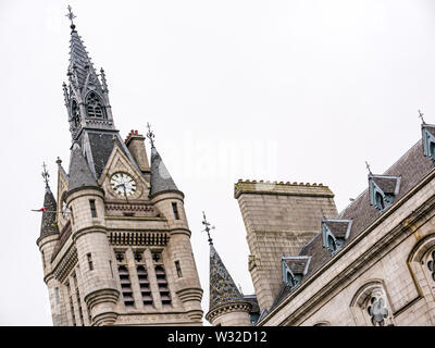
[[[206,319],[214,326],[251,326],[251,304],[237,289],[210,240],[210,306]]]

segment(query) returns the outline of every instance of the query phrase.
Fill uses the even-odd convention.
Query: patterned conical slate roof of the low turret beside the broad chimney
[[[210,245],[210,306],[209,311],[221,304],[246,302],[226,270],[216,249]]]

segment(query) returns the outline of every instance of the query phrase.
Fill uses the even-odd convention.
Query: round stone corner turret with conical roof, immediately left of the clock
[[[72,237],[83,277],[83,298],[94,325],[116,320],[120,293],[110,266],[111,249],[104,221],[104,191],[98,186],[78,144],[72,149],[65,197],[72,214]]]

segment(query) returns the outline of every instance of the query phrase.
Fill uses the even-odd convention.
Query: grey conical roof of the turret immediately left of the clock
[[[88,162],[82,154],[82,148],[74,144],[70,160],[70,185],[69,190],[84,186],[95,186],[98,184],[89,169]]]

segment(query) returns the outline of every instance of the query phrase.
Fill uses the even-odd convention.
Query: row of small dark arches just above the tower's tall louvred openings
[[[165,232],[110,232],[112,246],[166,246],[171,236]]]

